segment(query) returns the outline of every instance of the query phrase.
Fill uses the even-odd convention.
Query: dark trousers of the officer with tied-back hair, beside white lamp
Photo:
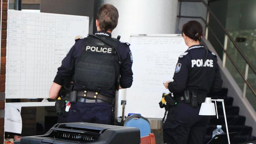
[[[163,123],[164,143],[203,144],[210,116],[199,116],[199,110],[184,102],[171,107]]]

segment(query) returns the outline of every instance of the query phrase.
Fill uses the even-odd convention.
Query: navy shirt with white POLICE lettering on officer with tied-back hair
[[[170,92],[182,96],[184,90],[191,90],[207,96],[221,89],[222,79],[217,56],[208,50],[206,62],[203,65],[205,56],[206,49],[202,45],[191,46],[179,56],[173,76],[174,81],[168,83]],[[198,72],[200,67],[202,68]],[[189,81],[192,77],[194,78]]]

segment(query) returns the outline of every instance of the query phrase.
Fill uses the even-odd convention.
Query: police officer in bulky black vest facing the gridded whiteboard
[[[57,98],[63,81],[72,77],[70,97],[75,94],[76,100],[67,107],[68,122],[111,124],[115,90],[132,85],[130,44],[111,38],[118,17],[113,5],[100,6],[95,35],[76,40],[58,68],[49,96]]]

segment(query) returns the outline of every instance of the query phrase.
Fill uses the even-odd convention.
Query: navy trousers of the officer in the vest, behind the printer
[[[68,122],[89,122],[111,124],[112,107],[109,103],[71,103],[67,115]]]

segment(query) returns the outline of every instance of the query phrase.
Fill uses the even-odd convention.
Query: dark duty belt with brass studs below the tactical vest
[[[91,92],[91,91],[86,91],[86,90],[77,92],[77,102],[93,103],[93,102],[96,102],[95,100],[97,100],[98,103],[100,103],[102,101],[108,102],[110,104],[113,103],[113,98],[111,98],[109,96],[104,96],[97,92]]]

